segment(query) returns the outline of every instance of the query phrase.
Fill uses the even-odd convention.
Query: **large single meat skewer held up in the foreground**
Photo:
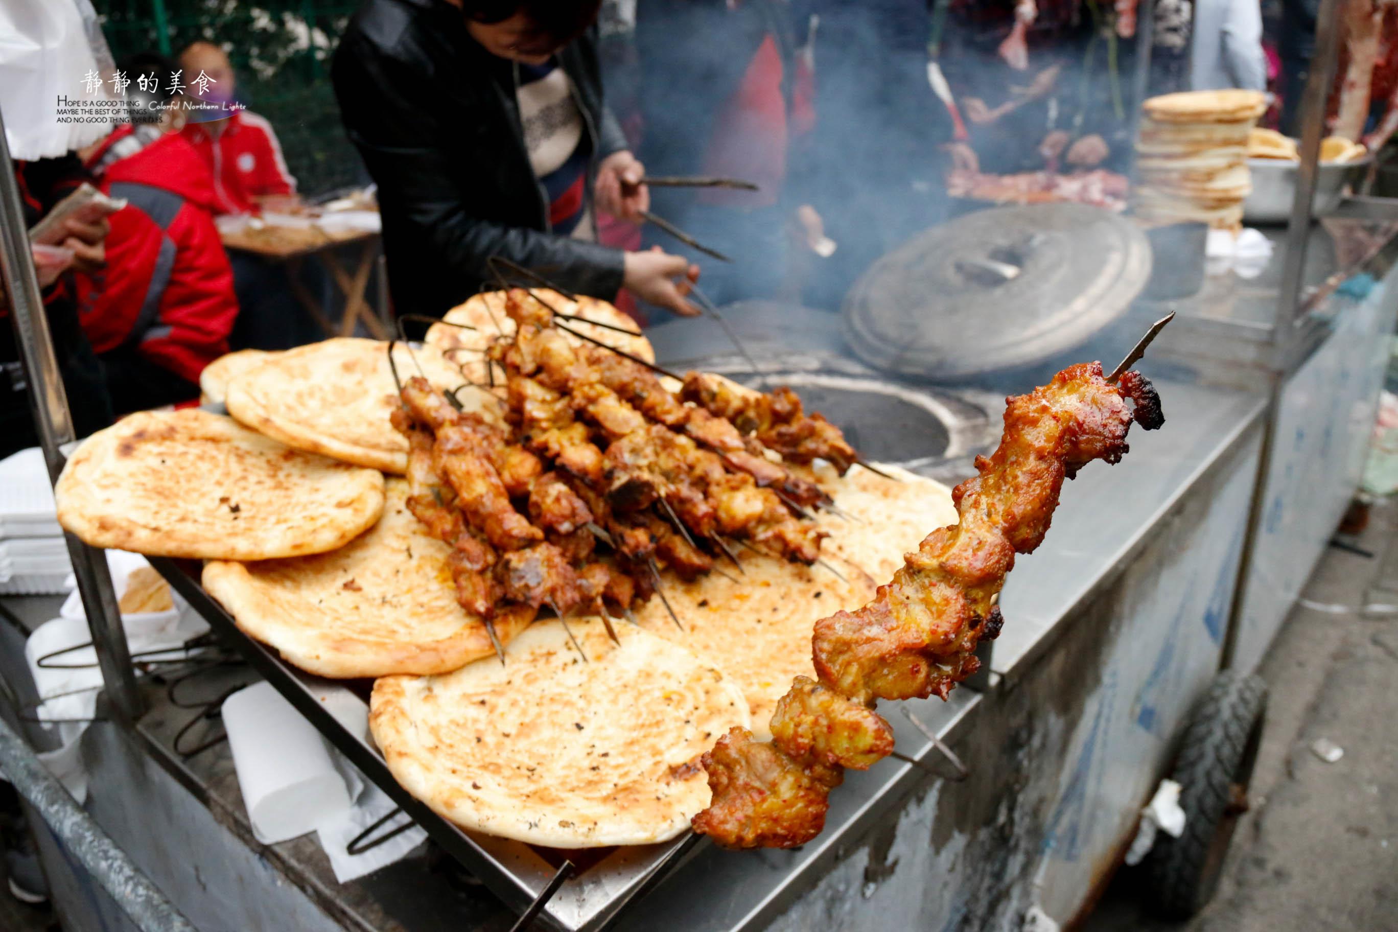
[[[976,643],[1000,633],[994,599],[1015,553],[1043,541],[1065,478],[1121,460],[1132,421],[1159,428],[1159,397],[1135,372],[1110,383],[1100,363],[1009,398],[1000,447],[952,492],[960,521],[930,534],[872,602],[815,623],[818,680],[798,676],[777,703],[772,743],[734,728],[705,755],[713,802],[695,831],[730,848],[788,848],[819,834],[844,769],[893,750],[875,701],[945,699],[976,672]]]

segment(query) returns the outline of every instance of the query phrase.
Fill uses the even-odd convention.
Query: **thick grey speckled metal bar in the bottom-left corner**
[[[141,932],[197,932],[0,717],[0,770]]]

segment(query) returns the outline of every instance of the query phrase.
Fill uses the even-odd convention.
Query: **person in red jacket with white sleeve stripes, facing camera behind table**
[[[180,53],[179,64],[187,96],[235,106],[236,75],[222,49],[194,42]],[[207,82],[196,84],[200,75]],[[214,173],[215,214],[256,214],[264,203],[295,200],[296,179],[287,170],[271,123],[242,108],[208,112],[226,119],[200,120],[201,110],[192,113],[182,133]]]

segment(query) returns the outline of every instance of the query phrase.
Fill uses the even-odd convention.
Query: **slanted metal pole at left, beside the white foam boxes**
[[[10,302],[10,317],[14,321],[25,379],[29,383],[29,402],[39,430],[39,444],[43,447],[43,460],[49,467],[49,481],[57,482],[64,463],[59,447],[74,439],[73,415],[69,411],[67,393],[63,390],[59,361],[53,354],[53,338],[49,334],[49,319],[43,313],[43,295],[34,271],[34,257],[29,254],[24,204],[20,201],[20,186],[14,177],[3,113],[0,113],[0,279]],[[88,630],[92,632],[92,644],[102,668],[102,680],[106,683],[112,715],[117,721],[130,724],[140,715],[140,694],[136,690],[136,672],[131,669],[106,556],[71,534],[66,535],[66,539],[73,560],[73,574],[77,577],[78,592],[82,594],[82,605],[87,609]]]

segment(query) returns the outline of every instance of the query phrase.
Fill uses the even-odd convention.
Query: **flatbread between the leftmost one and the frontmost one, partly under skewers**
[[[204,588],[238,627],[317,676],[449,673],[493,655],[485,625],[456,602],[450,548],[426,535],[407,495],[407,482],[389,479],[383,517],[338,551],[211,562]],[[509,643],[527,619],[502,613],[496,634]]]

